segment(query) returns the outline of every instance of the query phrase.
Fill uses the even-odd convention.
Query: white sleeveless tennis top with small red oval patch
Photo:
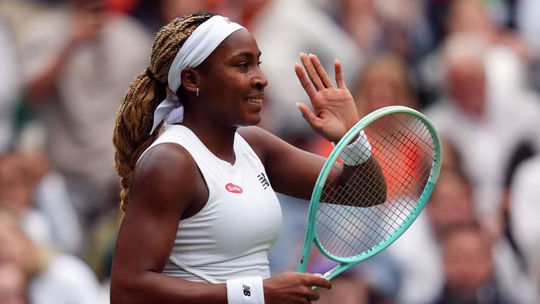
[[[209,193],[202,210],[180,220],[163,273],[211,283],[270,277],[268,250],[281,231],[281,208],[255,151],[236,133],[231,165],[182,125],[166,125],[146,151],[163,143],[179,144],[191,154]]]

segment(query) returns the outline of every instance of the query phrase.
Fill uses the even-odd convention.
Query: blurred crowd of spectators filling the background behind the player
[[[341,61],[361,117],[409,106],[442,136],[424,212],[318,303],[540,303],[540,1],[0,0],[0,304],[108,303],[117,108],[153,34],[193,11],[255,36],[260,126],[291,144],[331,151],[295,106],[300,51],[330,75]],[[296,268],[307,220],[280,199],[274,273]]]

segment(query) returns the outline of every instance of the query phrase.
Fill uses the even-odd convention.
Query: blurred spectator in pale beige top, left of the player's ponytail
[[[85,233],[116,208],[115,113],[129,82],[148,64],[151,39],[104,4],[69,1],[35,17],[21,37],[27,93]]]

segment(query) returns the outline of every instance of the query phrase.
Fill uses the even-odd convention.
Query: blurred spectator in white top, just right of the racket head
[[[444,47],[447,91],[425,111],[442,137],[451,140],[463,157],[465,173],[475,184],[475,208],[482,225],[499,231],[505,170],[520,144],[537,150],[540,105],[531,91],[497,94],[487,80],[484,62],[489,44],[482,37],[456,35]],[[499,90],[500,92],[500,90]],[[513,121],[508,124],[508,121]]]

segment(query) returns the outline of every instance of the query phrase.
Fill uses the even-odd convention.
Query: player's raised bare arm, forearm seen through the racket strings
[[[281,194],[309,200],[326,158],[302,151],[259,127],[244,127],[238,132],[261,158],[272,188]],[[341,201],[359,206],[385,202],[386,183],[373,156],[364,164],[340,166],[327,179],[332,188],[344,194]],[[323,196],[323,201],[328,198]]]

